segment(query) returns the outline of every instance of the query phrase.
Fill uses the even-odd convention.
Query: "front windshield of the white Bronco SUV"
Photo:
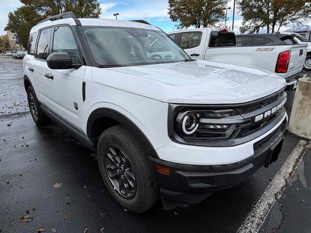
[[[83,33],[99,67],[190,61],[189,56],[161,31],[83,27]]]

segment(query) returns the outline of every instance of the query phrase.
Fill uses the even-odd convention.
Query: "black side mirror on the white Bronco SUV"
[[[50,69],[77,69],[80,64],[72,64],[70,55],[67,52],[52,52],[47,57],[47,65]]]

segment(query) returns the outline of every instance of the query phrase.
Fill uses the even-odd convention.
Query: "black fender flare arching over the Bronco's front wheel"
[[[138,140],[139,144],[148,156],[158,158],[155,148],[146,137],[146,135],[142,133],[142,131],[138,128],[138,126],[133,123],[133,121],[131,121],[127,116],[124,116],[120,112],[110,108],[98,108],[94,110],[87,119],[86,135],[89,140],[94,143],[95,149],[97,146],[96,124],[97,121],[101,120],[102,118],[110,118],[123,125],[135,136],[135,138]]]

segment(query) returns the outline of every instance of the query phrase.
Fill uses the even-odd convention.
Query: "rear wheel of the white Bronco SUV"
[[[33,117],[35,123],[39,126],[50,124],[52,120],[49,116],[46,116],[40,108],[40,102],[37,99],[35,90],[32,86],[29,86],[27,89],[27,100],[31,116]]]

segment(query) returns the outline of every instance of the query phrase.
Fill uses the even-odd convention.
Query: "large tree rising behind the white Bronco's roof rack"
[[[17,33],[19,43],[27,48],[31,28],[44,18],[72,11],[76,17],[98,18],[102,10],[98,0],[20,0],[23,5],[10,12],[6,30]]]

